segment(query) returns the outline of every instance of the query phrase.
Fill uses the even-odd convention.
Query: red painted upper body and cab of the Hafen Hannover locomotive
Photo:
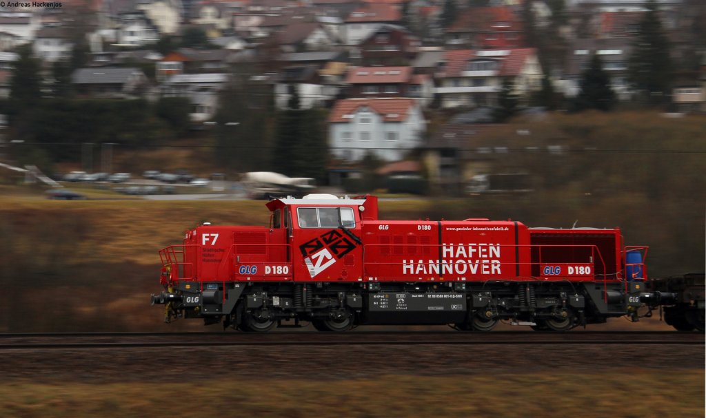
[[[618,228],[530,229],[520,222],[485,219],[379,221],[373,197],[340,203],[282,199],[267,206],[273,212],[269,228],[204,225],[187,231],[184,245],[161,252],[169,279],[623,280]],[[307,226],[304,217],[314,212],[318,223]],[[324,220],[331,213],[337,221]],[[347,227],[335,227],[340,223]]]

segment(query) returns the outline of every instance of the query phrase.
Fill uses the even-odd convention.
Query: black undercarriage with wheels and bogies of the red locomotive
[[[309,322],[320,331],[402,324],[450,324],[461,331],[490,331],[499,321],[566,331],[603,323],[609,317],[628,315],[637,320],[637,309],[644,305],[640,284],[221,282],[203,283],[203,290],[193,290],[193,283],[179,283],[153,302],[167,305],[166,321],[179,316],[203,318],[205,324],[222,323],[241,331]]]

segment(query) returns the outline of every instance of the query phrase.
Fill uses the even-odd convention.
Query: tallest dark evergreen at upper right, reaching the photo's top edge
[[[652,104],[659,104],[664,102],[671,85],[670,45],[659,20],[656,1],[648,0],[645,7],[647,12],[633,43],[628,72],[635,89],[647,94]]]

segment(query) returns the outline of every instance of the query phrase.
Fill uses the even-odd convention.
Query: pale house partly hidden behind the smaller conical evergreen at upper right
[[[568,49],[560,90],[566,97],[575,97],[580,90],[583,72],[590,66],[594,54],[598,54],[617,99],[629,100],[633,94],[628,82],[628,61],[633,49],[631,42],[624,37],[575,39]]]

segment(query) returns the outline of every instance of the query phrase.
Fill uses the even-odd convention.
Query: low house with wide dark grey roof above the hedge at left
[[[133,99],[145,93],[148,80],[139,68],[78,68],[71,83],[80,97]]]

